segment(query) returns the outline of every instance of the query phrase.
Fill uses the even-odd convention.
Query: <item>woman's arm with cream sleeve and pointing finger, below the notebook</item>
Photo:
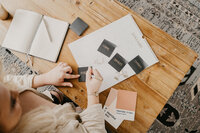
[[[44,85],[73,86],[64,79],[78,78],[79,75],[72,75],[72,69],[66,63],[60,63],[51,71],[41,75],[6,75],[4,83],[15,86],[19,92],[30,88],[37,88]]]

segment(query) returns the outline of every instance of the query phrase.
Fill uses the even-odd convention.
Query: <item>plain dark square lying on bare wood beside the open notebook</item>
[[[77,18],[71,25],[70,29],[72,29],[77,35],[81,35],[88,28],[88,24],[86,24],[81,18]]]

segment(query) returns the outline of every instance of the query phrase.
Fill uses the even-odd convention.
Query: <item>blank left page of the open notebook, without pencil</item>
[[[42,15],[18,9],[8,29],[3,47],[27,53],[33,41]]]

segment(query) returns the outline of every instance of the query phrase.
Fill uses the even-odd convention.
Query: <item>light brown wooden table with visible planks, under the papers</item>
[[[2,0],[2,4],[14,14],[18,8],[33,10],[69,23],[76,17],[89,24],[89,29],[83,34],[89,34],[125,15],[131,13],[141,31],[147,38],[159,63],[145,69],[138,75],[117,84],[114,88],[136,91],[138,93],[136,119],[134,122],[124,121],[113,131],[124,133],[145,132],[156,119],[157,115],[177,88],[181,79],[197,58],[197,54],[188,47],[173,39],[167,33],[153,26],[135,12],[113,0]],[[0,21],[0,41],[2,42],[9,27],[10,20]],[[79,39],[69,30],[58,62],[67,62],[77,73],[77,64],[67,46]],[[23,54],[14,52],[22,60]],[[44,73],[56,64],[34,58],[34,69]],[[86,88],[84,83],[72,80],[74,88],[59,88],[74,102],[83,108],[87,106]],[[101,103],[105,103],[109,90],[100,94]]]

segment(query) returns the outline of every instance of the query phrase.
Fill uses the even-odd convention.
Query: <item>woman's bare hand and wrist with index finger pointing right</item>
[[[73,87],[71,82],[65,82],[64,79],[78,78],[80,75],[73,75],[72,68],[66,63],[59,63],[51,71],[36,75],[33,79],[33,88],[37,88],[43,85],[55,85],[55,86],[69,86]]]

